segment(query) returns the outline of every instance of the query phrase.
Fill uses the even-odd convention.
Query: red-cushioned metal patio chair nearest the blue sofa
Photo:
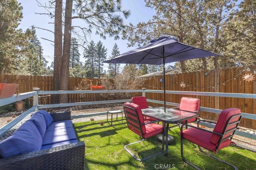
[[[140,107],[137,104],[126,102],[124,103],[124,113],[127,121],[128,128],[142,137],[142,140],[136,141],[134,143],[130,143],[127,145],[124,145],[124,149],[132,155],[132,157],[139,161],[144,161],[149,158],[152,158],[158,154],[161,154],[164,152],[164,139],[162,142],[162,149],[160,152],[157,152],[155,154],[152,154],[146,158],[137,158],[128,148],[127,146],[133,145],[135,143],[139,143],[144,141],[145,139],[158,135],[160,133],[164,133],[164,129],[162,125],[157,124],[158,121],[145,121],[142,115],[142,111]],[[162,135],[164,137],[164,135]]]

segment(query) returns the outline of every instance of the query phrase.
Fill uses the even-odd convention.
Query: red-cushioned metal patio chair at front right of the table
[[[220,113],[220,117],[218,118],[218,121],[215,122],[216,125],[215,125],[213,131],[199,128],[200,121],[214,123],[214,122],[206,121],[206,120],[198,121],[198,127],[184,124],[184,125],[191,127],[191,128],[184,129],[184,130],[182,129],[182,127],[184,125],[182,125],[181,130],[180,130],[180,140],[181,140],[180,145],[181,145],[181,156],[182,156],[183,161],[186,162],[187,164],[189,164],[190,166],[193,166],[194,168],[199,169],[194,164],[188,162],[183,155],[183,141],[188,140],[188,141],[198,145],[200,152],[207,154],[207,155],[211,156],[212,158],[215,158],[225,164],[228,164],[228,165],[232,166],[235,170],[237,170],[236,166],[234,166],[220,158],[217,158],[211,154],[204,152],[201,149],[201,147],[203,147],[206,150],[210,150],[210,151],[214,152],[214,154],[216,154],[216,151],[218,151],[224,147],[228,147],[231,143],[233,143],[233,142],[231,142],[231,140],[232,140],[232,137],[234,136],[236,129],[238,129],[238,124],[239,124],[241,118],[242,118],[242,114],[241,114],[240,109],[229,108],[229,109],[224,109]]]

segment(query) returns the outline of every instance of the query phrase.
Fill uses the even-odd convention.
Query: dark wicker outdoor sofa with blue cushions
[[[34,112],[0,137],[0,169],[84,169],[70,111]]]

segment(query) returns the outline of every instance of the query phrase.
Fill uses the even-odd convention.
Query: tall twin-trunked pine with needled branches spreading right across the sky
[[[64,42],[62,47],[62,0],[56,0],[54,14],[54,90],[68,90],[68,72],[70,59],[70,39],[71,32],[82,29],[84,38],[90,36],[92,28],[96,29],[96,34],[106,39],[106,35],[119,39],[118,34],[126,28],[124,21],[119,14],[125,18],[130,16],[130,10],[122,10],[121,1],[84,1],[66,0],[65,1],[65,21],[64,21]],[[74,2],[74,5],[73,5]],[[72,9],[74,7],[74,9]],[[73,15],[72,15],[73,14]],[[73,27],[72,19],[82,19],[87,27]],[[63,55],[62,55],[63,54]],[[91,64],[92,69],[93,64]],[[94,76],[94,69],[91,70]],[[68,95],[54,95],[53,103],[68,102]]]

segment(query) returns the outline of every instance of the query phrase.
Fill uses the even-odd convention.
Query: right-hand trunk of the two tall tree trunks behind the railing
[[[70,62],[72,4],[73,4],[73,0],[66,0],[60,90],[68,90],[68,82],[69,82],[68,81],[68,72],[69,72],[69,62]],[[68,94],[61,94],[59,102],[60,103],[68,103]]]

